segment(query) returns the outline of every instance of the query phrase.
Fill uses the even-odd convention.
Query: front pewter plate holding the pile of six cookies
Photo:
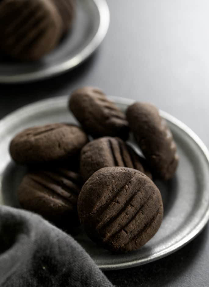
[[[123,98],[111,99],[123,111],[133,102]],[[175,177],[166,183],[156,182],[164,203],[162,225],[145,246],[118,255],[96,246],[81,230],[75,239],[103,270],[133,267],[167,256],[192,240],[209,219],[209,152],[185,124],[163,111],[161,115],[171,128],[180,156]],[[67,97],[34,103],[0,121],[2,204],[18,206],[16,189],[25,173],[24,167],[10,160],[8,146],[11,138],[27,127],[52,122],[76,122],[67,109]]]

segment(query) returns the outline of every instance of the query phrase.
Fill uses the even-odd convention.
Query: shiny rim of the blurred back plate
[[[101,44],[103,41],[110,24],[110,11],[106,0],[88,0],[94,2],[99,13],[99,25],[97,31],[90,42],[75,56],[65,62],[46,67],[45,69],[35,72],[1,75],[0,83],[23,83],[47,79],[56,75],[63,74],[72,70],[76,66],[83,63]]]

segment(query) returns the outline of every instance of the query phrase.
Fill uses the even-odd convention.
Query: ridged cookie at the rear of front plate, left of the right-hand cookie
[[[118,136],[128,138],[129,127],[124,113],[97,88],[84,87],[70,97],[70,110],[93,138]]]

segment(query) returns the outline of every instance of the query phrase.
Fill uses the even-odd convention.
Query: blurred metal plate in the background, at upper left
[[[105,0],[77,0],[71,31],[37,62],[19,62],[0,55],[0,83],[35,81],[62,74],[81,64],[99,46],[109,27]]]

